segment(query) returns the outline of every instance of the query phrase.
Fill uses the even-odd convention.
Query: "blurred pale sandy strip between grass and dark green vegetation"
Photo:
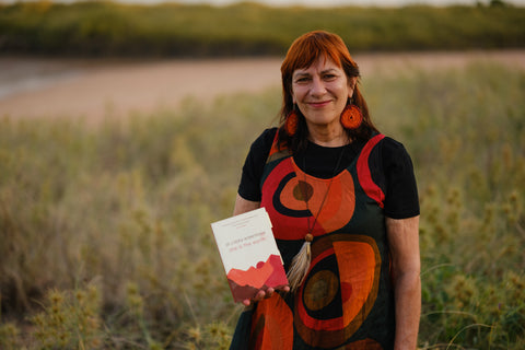
[[[525,50],[362,54],[363,77],[399,70],[462,68],[498,61],[525,70]],[[0,117],[121,118],[176,108],[192,96],[209,103],[280,86],[282,58],[74,60],[0,58]]]

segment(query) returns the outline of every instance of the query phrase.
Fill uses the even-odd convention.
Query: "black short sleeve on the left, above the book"
[[[246,200],[260,201],[261,199],[260,179],[276,132],[277,128],[266,129],[249,148],[238,185],[238,195]]]

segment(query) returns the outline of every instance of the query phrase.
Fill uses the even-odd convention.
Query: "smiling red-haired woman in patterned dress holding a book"
[[[234,214],[266,208],[290,288],[244,302],[232,349],[415,349],[421,288],[410,158],[372,124],[339,36],[299,37],[281,74],[280,127],[252,144]]]

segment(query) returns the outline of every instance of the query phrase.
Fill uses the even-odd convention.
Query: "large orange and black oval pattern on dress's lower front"
[[[361,327],[377,298],[381,273],[377,245],[364,235],[322,237],[312,245],[310,273],[296,298],[295,328],[312,347],[342,346]],[[319,299],[316,293],[323,282],[325,288],[331,285],[335,291],[324,291],[326,296]],[[314,284],[311,287],[311,283]],[[314,315],[324,314],[324,305],[340,307],[342,315],[316,318]]]

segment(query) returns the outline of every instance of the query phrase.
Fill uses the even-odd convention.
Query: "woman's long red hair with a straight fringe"
[[[280,143],[287,143],[292,148],[292,151],[296,151],[304,145],[307,137],[307,128],[304,117],[298,112],[299,125],[298,132],[294,137],[290,137],[283,128],[287,120],[287,116],[293,110],[293,97],[292,97],[292,75],[296,69],[304,69],[312,66],[318,59],[330,59],[338,65],[345,71],[347,79],[360,77],[359,67],[353,61],[350,52],[348,51],[345,42],[337,34],[328,33],[325,31],[314,31],[306,33],[296,38],[290,46],[287,57],[281,65],[281,79],[282,79],[282,107],[280,112],[280,130],[279,141]],[[358,85],[353,90],[353,104],[355,104],[363,114],[363,124],[357,130],[347,130],[349,137],[352,139],[369,139],[372,131],[377,131],[372,124],[369,115],[369,107],[364,101]]]

